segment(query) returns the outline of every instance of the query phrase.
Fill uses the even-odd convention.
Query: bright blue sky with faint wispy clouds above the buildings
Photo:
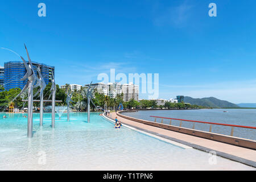
[[[46,17],[38,4],[46,4]],[[217,5],[217,17],[208,5]],[[159,73],[159,98],[256,102],[256,1],[1,1],[0,47],[55,66],[59,85]],[[0,65],[19,60],[0,49]],[[147,98],[145,94],[141,98]]]

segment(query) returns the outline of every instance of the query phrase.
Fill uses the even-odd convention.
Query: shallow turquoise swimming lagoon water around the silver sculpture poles
[[[27,118],[22,114],[0,114],[1,170],[255,170],[241,163],[207,152],[184,149],[126,127],[114,129],[112,122],[86,113],[56,114],[55,129],[51,114],[34,114],[34,137],[27,138]],[[215,160],[214,160],[215,161]]]

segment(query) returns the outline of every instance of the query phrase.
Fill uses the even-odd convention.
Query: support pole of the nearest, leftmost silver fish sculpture
[[[27,109],[27,137],[33,137],[33,85],[32,81],[28,84],[28,109]]]

